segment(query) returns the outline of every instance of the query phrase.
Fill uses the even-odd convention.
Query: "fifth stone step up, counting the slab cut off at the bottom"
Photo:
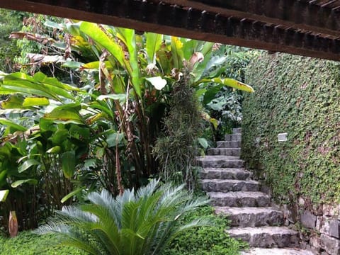
[[[202,188],[206,192],[259,191],[260,185],[258,181],[204,179]]]

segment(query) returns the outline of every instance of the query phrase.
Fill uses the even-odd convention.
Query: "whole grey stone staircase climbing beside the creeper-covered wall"
[[[271,206],[271,198],[260,192],[260,183],[244,169],[241,152],[241,129],[225,135],[217,148],[208,149],[208,156],[198,157],[203,190],[210,197],[215,212],[227,215],[231,237],[243,239],[251,249],[246,254],[307,255],[297,249],[298,233],[283,226],[283,213]]]

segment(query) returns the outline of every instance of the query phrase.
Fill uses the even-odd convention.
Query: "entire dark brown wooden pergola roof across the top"
[[[340,60],[340,0],[0,0],[0,7]]]

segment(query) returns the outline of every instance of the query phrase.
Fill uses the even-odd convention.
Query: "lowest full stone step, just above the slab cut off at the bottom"
[[[251,247],[283,248],[297,246],[297,232],[288,227],[235,227],[226,231],[231,237],[248,242]]]

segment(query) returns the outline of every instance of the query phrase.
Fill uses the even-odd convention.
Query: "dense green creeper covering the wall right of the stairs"
[[[340,64],[263,54],[249,64],[242,157],[273,196],[306,208],[340,203]],[[278,133],[288,132],[287,142]],[[314,205],[314,206],[312,206]]]

